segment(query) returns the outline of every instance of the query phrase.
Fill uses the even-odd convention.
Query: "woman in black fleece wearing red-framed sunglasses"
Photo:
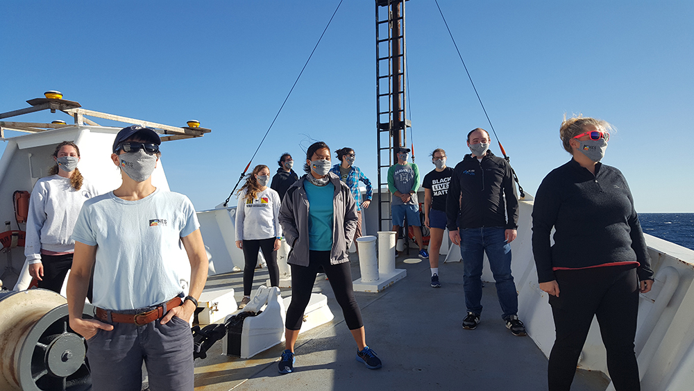
[[[535,197],[532,250],[557,331],[550,391],[570,389],[594,315],[615,389],[640,390],[634,353],[638,292],[650,291],[653,272],[627,181],[600,163],[609,130],[598,119],[565,119],[559,134],[573,159],[545,176]]]

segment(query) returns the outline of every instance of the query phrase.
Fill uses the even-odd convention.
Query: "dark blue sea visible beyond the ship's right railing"
[[[694,213],[639,213],[643,233],[694,250]]]

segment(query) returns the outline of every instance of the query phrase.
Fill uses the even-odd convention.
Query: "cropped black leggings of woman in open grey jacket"
[[[325,275],[328,276],[332,293],[342,308],[347,327],[356,330],[364,326],[362,312],[352,290],[350,263],[330,265],[330,251],[310,251],[308,266],[291,265],[291,303],[287,308],[285,326],[289,330],[301,328],[303,313],[311,300],[311,292],[320,267],[323,267]]]

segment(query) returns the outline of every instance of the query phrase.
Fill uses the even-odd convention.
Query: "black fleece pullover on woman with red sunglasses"
[[[555,244],[550,246],[552,227]],[[593,175],[572,159],[545,176],[532,210],[532,252],[541,283],[555,280],[554,267],[616,262],[638,262],[641,281],[653,276],[627,181],[601,163]]]

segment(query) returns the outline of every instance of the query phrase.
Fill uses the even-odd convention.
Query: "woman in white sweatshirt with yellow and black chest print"
[[[282,228],[278,220],[280,214],[280,194],[267,187],[270,169],[257,165],[246,178],[246,183],[237,192],[239,206],[236,208],[236,247],[244,250],[244,299],[239,308],[251,301],[253,274],[257,265],[258,251],[267,263],[270,285],[280,284],[280,270],[277,266],[277,250],[280,248]]]

